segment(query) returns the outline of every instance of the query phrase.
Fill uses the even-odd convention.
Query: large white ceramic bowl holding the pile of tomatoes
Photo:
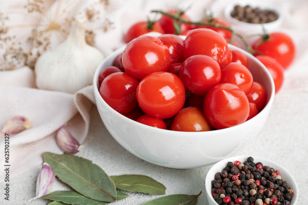
[[[239,49],[229,45],[230,49]],[[255,81],[261,83],[267,92],[265,108],[252,119],[234,127],[208,132],[178,132],[153,128],[131,120],[112,109],[100,96],[97,79],[99,73],[111,66],[115,57],[124,50],[120,48],[109,55],[97,68],[94,80],[94,94],[99,114],[111,136],[133,155],[153,164],[168,168],[188,169],[201,167],[227,157],[239,146],[245,137],[254,137],[260,132],[269,115],[274,100],[274,81],[269,71],[249,53],[249,69]],[[230,138],[236,140],[229,140]],[[221,142],[217,150],[217,139]],[[129,153],[127,154],[130,155]],[[124,156],[125,157],[125,156]]]

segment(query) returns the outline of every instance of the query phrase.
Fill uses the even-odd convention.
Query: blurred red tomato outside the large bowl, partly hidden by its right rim
[[[265,55],[259,55],[256,57],[265,67],[270,71],[275,84],[275,93],[281,88],[283,83],[283,67],[274,58]]]

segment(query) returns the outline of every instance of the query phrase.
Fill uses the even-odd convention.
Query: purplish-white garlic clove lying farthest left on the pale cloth
[[[14,116],[2,127],[1,133],[14,134],[32,127],[32,122],[24,116]]]

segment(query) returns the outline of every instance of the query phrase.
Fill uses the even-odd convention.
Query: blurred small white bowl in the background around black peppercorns
[[[277,4],[277,3],[276,3]],[[255,24],[255,23],[247,23],[239,21],[231,16],[231,12],[234,9],[234,6],[247,6],[249,5],[252,8],[260,8],[261,10],[274,10],[278,14],[278,19],[270,23],[264,24]],[[224,9],[225,18],[231,23],[233,28],[242,34],[255,34],[255,33],[263,33],[263,26],[268,32],[272,32],[277,30],[283,21],[283,12],[280,10],[280,5],[275,5],[274,2],[264,1],[264,0],[231,0],[230,3]]]

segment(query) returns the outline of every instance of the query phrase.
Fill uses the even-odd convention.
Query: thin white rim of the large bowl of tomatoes
[[[182,37],[183,39],[186,38],[186,36],[180,36]],[[95,99],[96,101],[98,100],[99,98],[99,101],[101,101],[105,107],[108,108],[109,111],[112,112],[113,115],[115,116],[119,116],[120,118],[122,118],[123,120],[128,120],[128,122],[132,123],[133,125],[136,125],[136,126],[141,126],[141,127],[144,127],[144,128],[153,128],[149,125],[145,125],[145,124],[142,124],[142,123],[139,123],[139,122],[136,122],[135,120],[132,120],[132,119],[129,119],[128,117],[120,114],[119,112],[116,112],[114,109],[112,109],[104,100],[102,97],[100,97],[100,94],[99,94],[99,89],[98,89],[98,86],[97,86],[97,83],[98,83],[98,76],[99,76],[99,73],[100,73],[100,69],[102,67],[102,65],[111,59],[111,57],[113,57],[113,55],[115,55],[115,53],[120,53],[122,52],[124,49],[125,49],[126,45],[115,50],[113,53],[111,53],[110,55],[108,55],[98,66],[98,68],[95,70],[95,73],[94,73],[94,77],[93,77],[93,89],[94,89],[94,94],[95,94]],[[267,104],[265,105],[265,107],[261,110],[261,112],[259,112],[256,116],[258,116],[260,113],[262,112],[265,112],[265,108],[268,108],[269,106],[271,106],[272,102],[274,101],[274,96],[275,96],[275,85],[274,85],[274,81],[273,81],[273,78],[271,77],[271,74],[270,72],[268,71],[268,69],[266,69],[265,65],[263,65],[256,57],[254,57],[252,54],[248,53],[247,51],[235,46],[235,45],[231,45],[228,43],[228,47],[229,49],[231,50],[235,50],[235,49],[238,49],[240,50],[241,52],[243,52],[245,55],[248,55],[249,57],[252,57],[254,60],[256,60],[256,62],[260,65],[260,67],[263,69],[264,73],[266,73],[266,76],[269,77],[270,79],[270,87],[271,87],[271,93],[270,93],[270,99],[269,101],[267,102]],[[98,96],[98,97],[96,97]],[[256,117],[254,116],[254,117]],[[254,118],[253,117],[253,118]],[[253,119],[252,118],[252,119]],[[252,120],[250,119],[250,120]],[[206,132],[181,132],[181,131],[174,131],[174,130],[165,130],[165,129],[159,129],[157,128],[157,130],[159,130],[160,132],[165,132],[166,134],[176,134],[178,136],[186,136],[189,134],[189,136],[193,135],[193,137],[205,137],[205,135],[211,135],[211,133],[219,133],[219,132],[229,132],[229,131],[232,131],[234,129],[238,129],[240,127],[245,127],[245,125],[249,123],[249,120],[248,121],[245,121],[241,124],[238,124],[238,125],[235,125],[233,127],[229,127],[229,128],[224,128],[224,129],[218,129],[218,130],[210,130],[210,131],[206,131]],[[192,137],[192,136],[191,136]]]

